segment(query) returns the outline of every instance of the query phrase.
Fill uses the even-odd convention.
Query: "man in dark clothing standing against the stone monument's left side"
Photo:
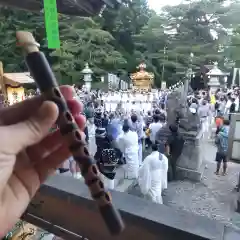
[[[184,139],[178,132],[178,127],[176,125],[170,125],[169,130],[171,135],[168,137],[166,142],[166,155],[168,156],[169,162],[168,179],[171,181],[176,180],[177,160],[182,154]]]

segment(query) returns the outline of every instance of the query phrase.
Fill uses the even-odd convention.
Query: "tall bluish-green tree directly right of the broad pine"
[[[134,35],[140,34],[152,14],[146,0],[132,0],[122,4],[118,11],[107,9],[102,16],[102,28],[115,38],[116,48],[128,62],[126,71],[129,73],[139,64],[134,56]]]

